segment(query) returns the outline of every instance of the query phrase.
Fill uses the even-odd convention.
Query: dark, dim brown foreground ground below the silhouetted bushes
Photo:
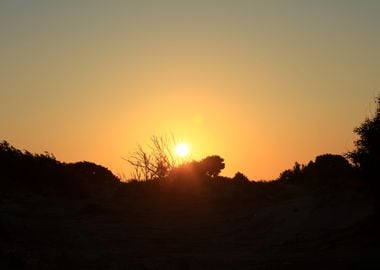
[[[362,187],[118,184],[2,193],[0,269],[380,269]]]

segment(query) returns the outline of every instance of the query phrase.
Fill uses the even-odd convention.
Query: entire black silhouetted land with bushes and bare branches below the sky
[[[0,269],[375,269],[379,104],[351,163],[323,154],[271,182],[221,176],[218,155],[179,162],[159,137],[127,183],[3,141]]]

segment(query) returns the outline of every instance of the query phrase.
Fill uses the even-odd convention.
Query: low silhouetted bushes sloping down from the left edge
[[[0,143],[0,172],[0,192],[7,196],[32,192],[83,197],[104,192],[119,182],[102,166],[90,162],[61,163],[53,154],[21,151],[6,141]]]

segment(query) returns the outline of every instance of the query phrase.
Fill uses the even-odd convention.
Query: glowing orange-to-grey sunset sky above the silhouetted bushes
[[[0,1],[0,140],[128,178],[173,134],[270,180],[353,148],[380,93],[380,1]]]

